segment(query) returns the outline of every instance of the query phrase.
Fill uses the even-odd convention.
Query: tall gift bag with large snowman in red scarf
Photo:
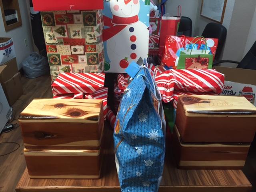
[[[105,0],[105,72],[124,73],[129,63],[148,57],[150,0]]]

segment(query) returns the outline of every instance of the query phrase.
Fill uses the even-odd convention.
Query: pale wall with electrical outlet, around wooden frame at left
[[[20,63],[34,51],[33,38],[30,30],[30,20],[28,17],[27,4],[25,0],[19,0],[20,14],[22,19],[22,26],[5,32],[4,22],[2,19],[2,13],[0,10],[0,37],[12,37],[14,41],[14,47],[16,52],[16,59],[18,68],[20,69]],[[25,46],[24,39],[27,39],[28,46]]]

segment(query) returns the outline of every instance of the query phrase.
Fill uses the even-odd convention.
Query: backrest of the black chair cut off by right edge
[[[238,64],[237,68],[256,70],[256,41],[244,56],[240,64]]]

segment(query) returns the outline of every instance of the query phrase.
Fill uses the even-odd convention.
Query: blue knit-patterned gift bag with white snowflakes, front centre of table
[[[133,79],[116,117],[116,168],[122,192],[157,192],[164,168],[164,111],[149,69],[137,68],[136,75],[128,73]]]

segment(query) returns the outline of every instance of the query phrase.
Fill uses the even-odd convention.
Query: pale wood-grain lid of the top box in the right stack
[[[179,102],[186,116],[256,117],[256,107],[243,96],[182,95]]]

